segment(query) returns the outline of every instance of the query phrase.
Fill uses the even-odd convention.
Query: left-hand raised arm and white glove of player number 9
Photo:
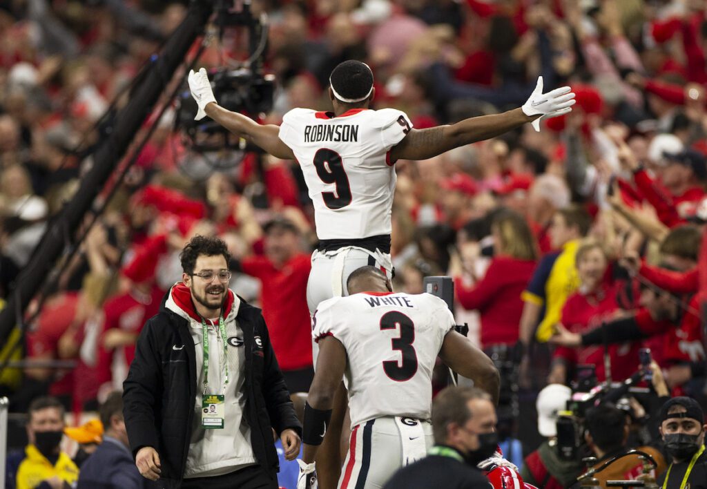
[[[189,90],[197,101],[199,110],[196,120],[208,115],[233,134],[244,137],[265,152],[281,159],[295,159],[292,150],[279,138],[280,128],[276,125],[261,125],[243,114],[226,110],[216,103],[214,91],[206,70],[189,71]]]

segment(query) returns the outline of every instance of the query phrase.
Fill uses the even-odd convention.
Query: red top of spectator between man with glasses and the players
[[[300,253],[277,269],[264,256],[246,258],[243,272],[262,282],[263,318],[282,370],[312,366],[312,326],[307,306],[310,256]]]

